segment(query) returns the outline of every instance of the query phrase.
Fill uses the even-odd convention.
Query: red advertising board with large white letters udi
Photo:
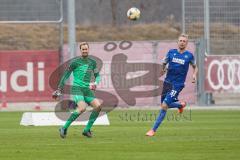
[[[58,65],[58,51],[0,51],[1,100],[52,100],[48,81]]]

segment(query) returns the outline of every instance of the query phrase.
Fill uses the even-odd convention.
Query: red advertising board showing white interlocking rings
[[[205,75],[208,92],[240,92],[240,57],[207,56]]]

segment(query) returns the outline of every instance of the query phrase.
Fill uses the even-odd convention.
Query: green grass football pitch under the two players
[[[110,126],[94,126],[94,137],[71,126],[20,126],[21,112],[0,112],[1,160],[239,160],[240,111],[168,112],[155,137],[145,137],[158,111],[113,111]]]

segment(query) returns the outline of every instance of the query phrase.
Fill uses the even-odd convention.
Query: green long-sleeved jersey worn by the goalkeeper
[[[58,88],[64,87],[66,80],[70,77],[72,72],[74,77],[73,86],[89,88],[93,75],[95,77],[95,83],[98,84],[100,82],[96,61],[89,57],[77,57],[70,62],[68,68],[64,71]]]

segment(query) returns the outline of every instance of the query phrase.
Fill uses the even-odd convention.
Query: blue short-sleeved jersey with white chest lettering
[[[183,53],[179,53],[177,49],[168,51],[164,63],[168,64],[165,81],[170,82],[172,85],[184,85],[189,64],[196,64],[191,52],[186,50]]]

